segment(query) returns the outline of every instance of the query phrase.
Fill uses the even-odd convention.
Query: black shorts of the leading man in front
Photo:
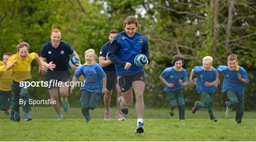
[[[118,84],[120,86],[121,92],[124,93],[128,91],[132,87],[132,82],[133,81],[143,81],[145,83],[145,78],[144,78],[144,71],[138,72],[133,76],[118,76]]]

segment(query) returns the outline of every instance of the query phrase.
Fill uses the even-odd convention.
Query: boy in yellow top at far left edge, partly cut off
[[[11,71],[6,71],[6,63],[11,55],[12,53],[4,53],[3,65],[0,66],[0,110],[3,110],[5,115],[10,115],[10,106],[12,102]]]

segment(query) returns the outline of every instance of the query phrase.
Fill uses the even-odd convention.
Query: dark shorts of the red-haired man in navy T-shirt
[[[45,82],[48,82],[48,87],[46,87],[46,89],[51,89],[54,87],[58,87],[56,83],[49,83],[50,80],[55,81],[56,82],[67,82],[69,81],[71,73],[69,71],[49,71],[45,74]]]

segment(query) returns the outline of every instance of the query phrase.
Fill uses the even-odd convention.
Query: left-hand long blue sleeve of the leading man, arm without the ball
[[[116,35],[117,36],[117,35]],[[118,44],[118,38],[112,41],[109,48],[109,58],[110,61],[113,62],[118,67],[125,67],[126,62],[123,62],[117,57],[118,51],[119,51],[119,44]]]

